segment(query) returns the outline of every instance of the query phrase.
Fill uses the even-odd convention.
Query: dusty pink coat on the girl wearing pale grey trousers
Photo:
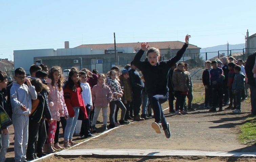
[[[107,85],[98,83],[92,87],[91,97],[94,107],[108,107],[112,100],[112,92]]]

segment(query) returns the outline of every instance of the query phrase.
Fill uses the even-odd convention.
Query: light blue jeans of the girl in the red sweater
[[[67,119],[67,125],[65,128],[65,133],[64,133],[64,140],[71,140],[74,134],[74,129],[77,125],[77,119],[79,116],[79,108],[80,107],[74,107],[74,112],[75,112],[75,116],[74,117],[70,117],[68,116]]]

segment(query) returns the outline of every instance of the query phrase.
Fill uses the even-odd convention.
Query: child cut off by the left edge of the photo
[[[5,161],[5,155],[10,143],[8,126],[12,124],[12,121],[10,120],[11,116],[9,113],[9,108],[7,106],[7,101],[2,91],[6,87],[7,74],[4,71],[0,71],[0,112],[6,112],[4,112],[5,117],[3,116],[3,113],[1,113],[2,115],[0,116],[0,162]]]

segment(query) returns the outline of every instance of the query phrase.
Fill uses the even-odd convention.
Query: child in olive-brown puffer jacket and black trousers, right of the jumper
[[[174,84],[174,93],[176,96],[175,114],[188,114],[184,110],[184,102],[190,87],[190,78],[188,72],[184,69],[185,63],[178,63],[177,68],[173,72],[172,82]]]

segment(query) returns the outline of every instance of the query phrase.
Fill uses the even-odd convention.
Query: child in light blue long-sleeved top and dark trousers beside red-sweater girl
[[[93,136],[90,132],[90,125],[91,125],[92,119],[89,118],[90,112],[93,111],[92,98],[91,98],[91,87],[90,87],[89,83],[87,83],[88,76],[87,76],[86,72],[80,71],[79,77],[81,80],[82,98],[83,98],[86,112],[88,115],[88,118],[84,119],[84,112],[79,111],[79,116],[80,116],[79,118],[82,119],[80,136],[87,138],[87,137]],[[98,77],[98,74],[97,74],[97,77]]]

